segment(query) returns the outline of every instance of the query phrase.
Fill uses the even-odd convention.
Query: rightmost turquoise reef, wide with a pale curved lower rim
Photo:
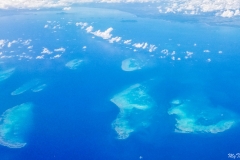
[[[219,133],[234,126],[236,115],[222,107],[212,107],[206,100],[175,99],[169,115],[176,116],[175,132]]]

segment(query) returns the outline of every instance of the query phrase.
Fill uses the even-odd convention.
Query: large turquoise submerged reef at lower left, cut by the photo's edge
[[[32,103],[23,103],[7,109],[0,120],[0,145],[22,148],[32,121]]]

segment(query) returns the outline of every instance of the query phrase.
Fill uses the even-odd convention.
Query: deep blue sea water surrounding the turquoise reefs
[[[240,152],[238,124],[217,134],[175,133],[175,117],[167,113],[172,99],[199,95],[207,97],[213,108],[221,106],[240,114],[239,28],[140,18],[96,8],[58,14],[60,12],[26,12],[0,17],[3,26],[0,39],[32,40],[26,46],[17,43],[0,50],[3,55],[15,55],[0,60],[2,69],[16,68],[10,78],[0,82],[0,111],[24,102],[34,104],[27,145],[20,149],[1,146],[1,159],[202,160],[229,159],[229,153]],[[125,19],[135,21],[123,22]],[[144,49],[134,52],[134,47],[123,42],[110,44],[99,37],[92,38],[93,35],[77,27],[76,22],[87,22],[94,31],[112,27],[113,37],[132,39],[132,44],[147,42],[158,48],[152,53]],[[44,28],[46,24],[49,28]],[[61,28],[53,29],[58,24]],[[28,46],[33,46],[32,51]],[[82,49],[83,46],[87,49]],[[64,47],[66,51],[57,59],[50,58],[56,52],[45,55],[45,59],[36,59],[42,55],[43,47],[52,52]],[[176,51],[176,58],[181,60],[172,60],[170,55],[159,58],[164,56],[163,49]],[[185,59],[186,51],[193,52],[192,57]],[[19,60],[16,55],[22,52],[33,58]],[[75,58],[84,60],[78,69],[65,67]],[[125,72],[121,62],[126,58],[139,58],[146,66]],[[41,79],[47,87],[36,93],[29,90],[10,95],[34,78]],[[148,128],[119,140],[111,127],[119,109],[110,99],[135,83],[143,83],[148,88],[157,107]],[[236,116],[236,121],[238,119]]]

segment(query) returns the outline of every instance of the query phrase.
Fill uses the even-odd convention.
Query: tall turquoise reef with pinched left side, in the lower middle
[[[128,87],[114,95],[111,102],[120,110],[117,118],[112,122],[118,139],[126,139],[132,132],[150,125],[155,103],[143,85],[135,84]]]

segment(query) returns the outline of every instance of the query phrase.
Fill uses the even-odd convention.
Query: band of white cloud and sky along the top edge
[[[160,13],[214,13],[221,17],[240,16],[240,0],[2,0],[0,9],[68,7],[79,3],[157,3]]]

